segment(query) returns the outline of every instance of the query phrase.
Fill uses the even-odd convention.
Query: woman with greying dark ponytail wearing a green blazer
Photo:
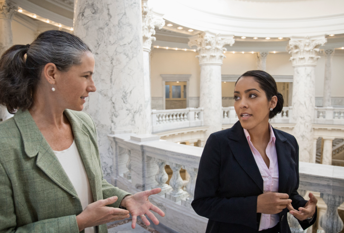
[[[164,216],[151,204],[160,188],[135,195],[109,184],[97,133],[81,112],[95,92],[95,59],[80,38],[46,31],[0,58],[0,104],[14,117],[0,123],[0,232],[107,232],[132,214],[145,224]]]

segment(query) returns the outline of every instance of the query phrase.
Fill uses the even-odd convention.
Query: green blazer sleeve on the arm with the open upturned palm
[[[89,115],[89,114],[88,114]],[[96,128],[96,125],[91,117],[91,115],[89,115],[89,117],[91,118],[92,120],[92,123],[93,123],[93,130],[94,130],[94,135],[95,137],[97,138],[97,128]],[[102,170],[102,165],[101,165],[101,162],[100,162],[100,156],[99,156],[99,151],[98,151],[98,146],[96,148],[96,153],[97,153],[97,159],[98,159],[98,162],[99,162],[99,167],[101,169],[101,172],[102,172],[102,192],[103,192],[103,199],[107,199],[107,198],[111,198],[113,196],[116,196],[118,199],[115,203],[111,204],[111,205],[107,205],[109,207],[114,207],[114,208],[118,208],[119,207],[119,204],[121,203],[122,199],[127,196],[127,195],[131,195],[131,193],[129,192],[126,192],[122,189],[119,189],[118,187],[115,187],[113,186],[112,184],[109,184],[106,179],[104,179],[104,174],[103,174],[103,170]]]

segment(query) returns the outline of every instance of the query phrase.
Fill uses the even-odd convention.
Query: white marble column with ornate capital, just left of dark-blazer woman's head
[[[221,91],[221,66],[226,57],[224,45],[232,46],[234,36],[227,38],[219,34],[211,35],[204,32],[201,35],[190,37],[189,46],[197,46],[200,73],[199,106],[204,108],[203,122],[209,126],[205,132],[205,140],[211,133],[222,130],[222,91]]]

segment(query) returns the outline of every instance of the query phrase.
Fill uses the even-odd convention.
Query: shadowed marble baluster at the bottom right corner
[[[326,233],[337,233],[343,229],[343,221],[338,215],[338,207],[344,202],[344,197],[320,193],[320,198],[326,203],[327,209],[320,217],[320,226]]]

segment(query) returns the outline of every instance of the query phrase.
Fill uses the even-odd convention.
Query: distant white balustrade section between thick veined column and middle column
[[[152,110],[153,133],[203,126],[203,108]]]

